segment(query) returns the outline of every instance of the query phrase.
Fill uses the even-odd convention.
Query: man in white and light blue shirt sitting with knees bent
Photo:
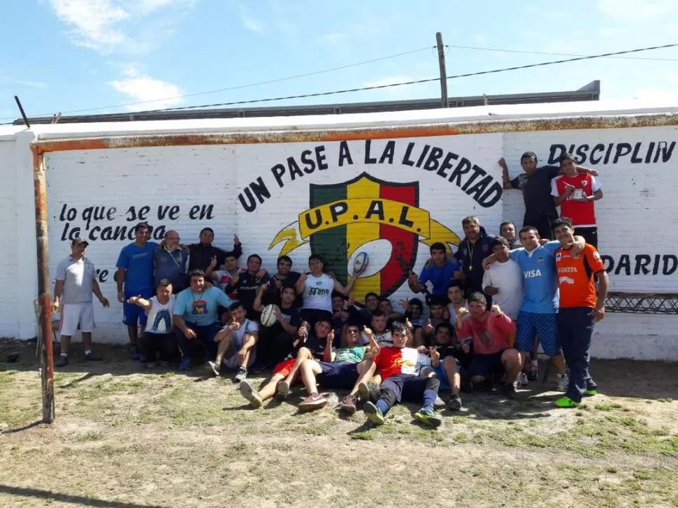
[[[214,340],[219,344],[217,356],[215,361],[208,361],[207,367],[217,376],[221,374],[222,364],[230,370],[238,370],[234,381],[240,382],[247,377],[247,368],[254,363],[259,325],[247,319],[247,310],[241,302],[231,304],[229,312],[231,323],[215,336]]]

